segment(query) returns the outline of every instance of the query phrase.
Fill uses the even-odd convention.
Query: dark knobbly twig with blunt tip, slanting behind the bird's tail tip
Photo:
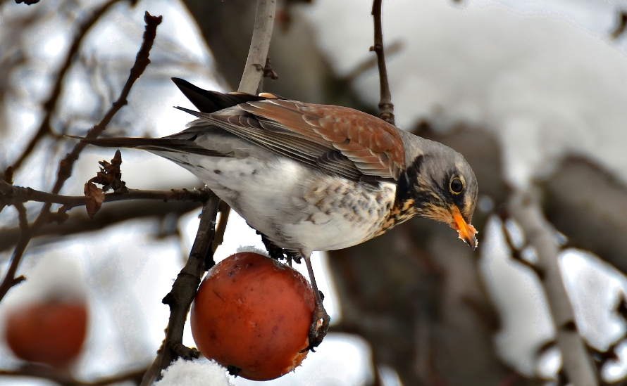
[[[132,66],[128,80],[126,81],[124,88],[120,92],[120,97],[115,103],[113,103],[113,105],[108,110],[106,115],[102,118],[100,123],[87,131],[87,135],[85,136],[86,138],[97,138],[97,136],[99,136],[102,131],[106,129],[106,125],[111,122],[113,116],[116,115],[120,108],[123,108],[123,106],[128,103],[126,98],[128,98],[128,94],[132,85],[135,84],[135,81],[139,79],[139,77],[144,73],[144,70],[146,70],[147,65],[150,63],[149,53],[152,44],[154,43],[154,38],[156,37],[156,27],[161,24],[161,16],[155,17],[147,12],[144,15],[144,21],[146,22],[146,29],[144,31],[142,48],[139,49],[139,52],[137,53],[137,57],[135,58],[135,64]],[[87,146],[87,143],[85,142],[77,143],[74,146],[73,150],[68,153],[66,157],[61,160],[61,162],[59,162],[56,182],[54,184],[54,187],[52,188],[51,193],[57,194],[59,191],[61,191],[63,184],[65,184],[66,180],[72,175],[74,163],[76,162],[76,160],[78,160],[78,156],[82,152],[83,148],[85,148],[85,146]],[[44,206],[39,212],[37,219],[35,219],[35,222],[31,226],[31,231],[29,232],[29,234],[21,236],[20,240],[18,240],[18,243],[15,246],[15,250],[13,251],[13,256],[11,257],[11,264],[9,264],[6,274],[2,279],[2,282],[0,283],[0,301],[4,298],[6,292],[8,292],[8,290],[10,290],[11,287],[13,287],[14,285],[13,281],[15,272],[18,270],[20,261],[30,241],[30,234],[37,231],[40,226],[46,224],[50,217],[51,207],[51,202],[44,203]]]

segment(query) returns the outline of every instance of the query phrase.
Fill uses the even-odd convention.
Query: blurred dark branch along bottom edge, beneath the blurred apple
[[[59,385],[63,386],[106,386],[111,385],[112,383],[125,382],[129,380],[135,381],[135,384],[137,384],[142,378],[142,374],[144,374],[145,372],[146,369],[142,368],[141,370],[111,375],[109,377],[90,382],[70,378],[70,376],[68,376],[66,373],[59,373],[58,371],[54,371],[53,369],[46,366],[27,365],[23,368],[19,368],[18,370],[0,370],[0,375],[40,378],[45,380],[51,380],[52,382],[56,382]]]

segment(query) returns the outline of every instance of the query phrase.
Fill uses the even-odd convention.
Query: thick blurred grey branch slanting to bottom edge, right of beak
[[[575,313],[559,269],[559,245],[555,231],[545,219],[537,198],[529,192],[515,192],[509,200],[509,212],[520,224],[538,255],[535,264],[542,271],[542,285],[557,331],[564,371],[574,386],[598,386],[599,380],[588,351],[575,324]]]

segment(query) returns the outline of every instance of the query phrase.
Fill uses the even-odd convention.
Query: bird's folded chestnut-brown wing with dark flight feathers
[[[213,113],[181,110],[275,153],[349,179],[396,180],[404,169],[398,129],[351,108],[268,98]]]

